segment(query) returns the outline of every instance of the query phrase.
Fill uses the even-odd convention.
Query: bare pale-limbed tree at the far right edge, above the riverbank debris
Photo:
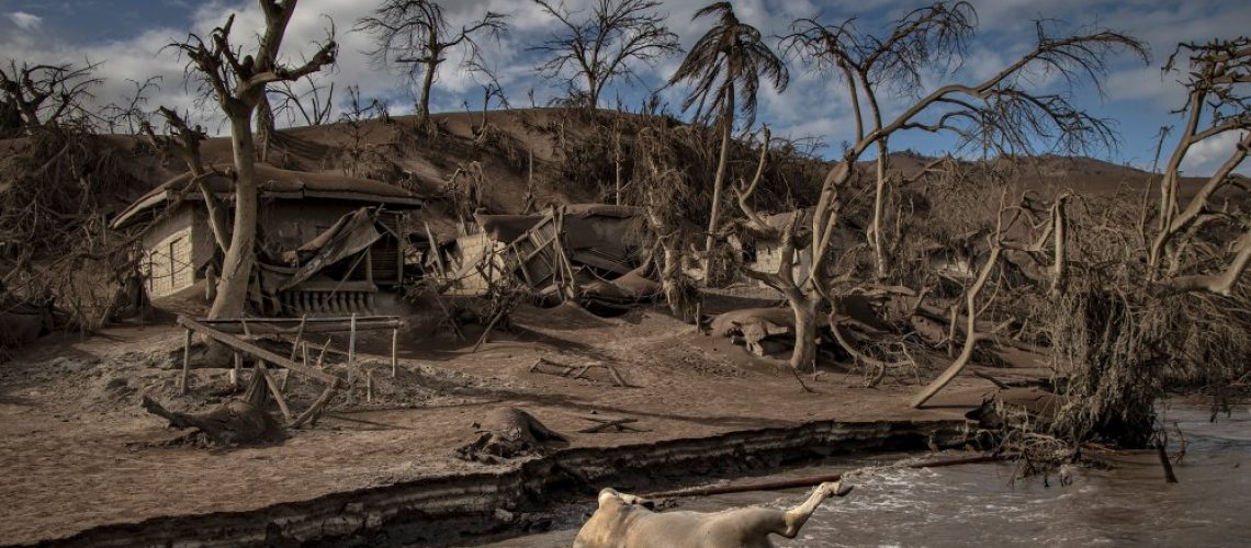
[[[1251,263],[1251,222],[1237,218],[1212,205],[1215,195],[1237,182],[1233,171],[1251,154],[1251,111],[1247,110],[1247,85],[1251,84],[1251,39],[1217,40],[1207,44],[1182,44],[1170,57],[1166,70],[1173,70],[1178,55],[1190,61],[1188,95],[1182,111],[1186,126],[1160,180],[1158,222],[1147,252],[1147,278],[1166,293],[1206,291],[1228,296]],[[1202,124],[1208,119],[1211,122]],[[1198,192],[1182,208],[1177,202],[1181,162],[1196,145],[1228,132],[1241,132],[1237,144]],[[1246,188],[1243,187],[1243,191]],[[1245,225],[1233,243],[1233,257],[1220,272],[1178,275],[1183,252],[1201,230],[1220,225]],[[1165,265],[1167,262],[1167,266]]]

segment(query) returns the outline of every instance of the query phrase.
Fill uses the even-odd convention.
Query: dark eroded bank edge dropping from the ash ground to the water
[[[763,473],[839,453],[963,443],[963,421],[816,421],[614,448],[562,449],[499,472],[455,473],[245,512],[99,526],[38,546],[440,546],[542,527],[544,511],[593,486],[672,487]],[[683,482],[686,479],[686,482]]]

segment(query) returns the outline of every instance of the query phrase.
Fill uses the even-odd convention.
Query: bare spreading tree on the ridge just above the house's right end
[[[508,16],[488,11],[480,20],[453,31],[443,6],[430,0],[385,0],[374,15],[357,21],[353,30],[374,35],[377,47],[370,51],[383,64],[398,62],[422,70],[422,87],[417,115],[430,116],[430,87],[447,54],[464,49],[464,61],[480,61],[482,52],[475,35],[498,40],[508,30]]]

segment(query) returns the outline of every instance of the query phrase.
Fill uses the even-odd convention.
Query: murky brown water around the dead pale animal
[[[1080,469],[1070,486],[1052,477],[1011,482],[1012,464],[950,468],[891,467],[909,456],[843,458],[774,478],[862,468],[856,491],[827,501],[794,541],[779,547],[894,546],[1251,546],[1251,411],[1216,423],[1201,408],[1170,408],[1188,447],[1166,484],[1155,453],[1120,454],[1112,469]],[[1175,439],[1172,442],[1176,442]],[[1176,451],[1176,446],[1171,448]],[[681,508],[704,512],[763,504],[787,508],[804,489],[693,498]],[[498,547],[568,547],[565,531],[510,539]]]

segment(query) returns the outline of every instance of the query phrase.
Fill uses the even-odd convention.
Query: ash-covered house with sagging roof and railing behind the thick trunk
[[[229,215],[234,185],[226,166],[218,171],[205,182]],[[378,181],[265,165],[256,166],[256,177],[259,275],[250,301],[259,313],[369,312],[375,293],[403,282],[402,215],[420,208],[422,197]],[[213,291],[221,252],[190,172],[136,200],[113,227],[143,232],[150,297]]]

